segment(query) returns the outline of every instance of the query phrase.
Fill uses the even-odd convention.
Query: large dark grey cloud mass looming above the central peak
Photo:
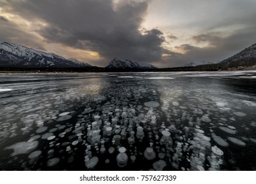
[[[33,0],[9,1],[9,9],[23,18],[47,22],[36,31],[50,43],[96,51],[105,64],[114,57],[154,62],[166,52],[160,30],[139,31],[146,1]]]

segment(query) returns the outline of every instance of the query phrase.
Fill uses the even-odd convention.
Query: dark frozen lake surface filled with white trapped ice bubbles
[[[0,170],[256,170],[256,71],[0,74]]]

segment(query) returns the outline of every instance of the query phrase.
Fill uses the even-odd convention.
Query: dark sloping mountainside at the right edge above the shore
[[[220,68],[247,67],[256,65],[256,43],[240,53],[219,62]]]

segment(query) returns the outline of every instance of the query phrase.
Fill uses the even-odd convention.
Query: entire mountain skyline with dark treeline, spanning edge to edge
[[[64,58],[54,53],[44,53],[10,42],[0,43],[1,68],[78,68],[70,71],[187,71],[187,70],[229,70],[228,68],[256,68],[256,44],[243,49],[240,53],[215,64],[184,66],[177,68],[157,68],[152,64],[138,64],[132,60],[114,58],[105,68],[91,66],[75,58]],[[64,70],[69,71],[69,70]]]

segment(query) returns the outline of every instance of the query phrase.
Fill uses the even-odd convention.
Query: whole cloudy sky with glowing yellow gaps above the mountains
[[[255,0],[0,0],[0,42],[95,66],[203,64],[256,43]]]

